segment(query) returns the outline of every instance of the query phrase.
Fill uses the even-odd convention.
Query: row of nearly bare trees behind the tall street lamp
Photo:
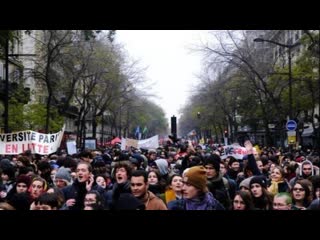
[[[289,115],[288,66],[283,64],[285,49],[278,59],[272,45],[259,45],[253,39],[276,34],[276,31],[216,31],[197,50],[204,55],[205,70],[201,84],[182,109],[181,131],[198,127],[223,136],[225,129],[237,141],[238,127],[262,130],[266,144],[275,144],[270,124],[285,137]],[[314,109],[319,104],[319,31],[303,31],[303,52],[293,65],[293,116],[302,124],[317,119]],[[281,64],[282,63],[282,64]],[[318,71],[317,71],[318,70]],[[201,118],[196,113],[201,112]],[[184,130],[184,131],[183,131]],[[280,135],[281,135],[280,134]]]

